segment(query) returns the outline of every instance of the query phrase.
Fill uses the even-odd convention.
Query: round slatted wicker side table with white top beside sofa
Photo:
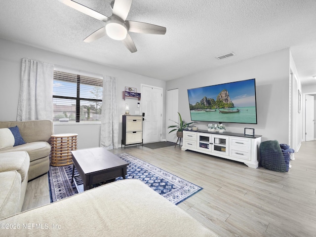
[[[63,166],[73,163],[71,151],[77,150],[76,133],[51,135],[50,165]]]

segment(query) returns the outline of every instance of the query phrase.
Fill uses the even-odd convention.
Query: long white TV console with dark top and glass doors
[[[232,132],[183,131],[182,151],[191,150],[245,163],[258,168],[261,135]]]

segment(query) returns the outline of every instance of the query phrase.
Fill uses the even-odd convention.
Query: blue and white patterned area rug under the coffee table
[[[174,204],[179,204],[202,188],[163,169],[127,153],[116,154],[129,163],[126,179],[139,179]],[[71,184],[73,165],[50,166],[49,190],[51,202],[83,192],[82,180],[75,169],[75,182]],[[123,179],[118,177],[116,180]]]

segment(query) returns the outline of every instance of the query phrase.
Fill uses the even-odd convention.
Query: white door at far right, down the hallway
[[[314,140],[314,96],[306,95],[305,100],[305,140]]]

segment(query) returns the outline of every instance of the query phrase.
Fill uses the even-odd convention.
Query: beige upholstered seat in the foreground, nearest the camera
[[[0,220],[0,236],[217,237],[137,179],[94,188]]]

